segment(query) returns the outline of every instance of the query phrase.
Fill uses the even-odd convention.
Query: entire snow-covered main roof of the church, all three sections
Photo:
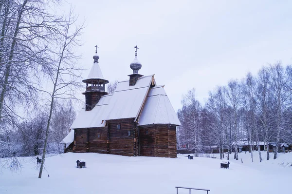
[[[156,84],[154,75],[138,78],[134,86],[129,86],[129,80],[119,82],[114,94],[101,97],[91,111],[82,109],[71,129],[104,127],[107,120],[136,120],[139,115],[139,125],[180,125],[163,86],[150,88],[151,83]]]

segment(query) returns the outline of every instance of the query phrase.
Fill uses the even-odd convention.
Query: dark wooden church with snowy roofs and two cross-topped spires
[[[97,50],[86,83],[85,107],[62,143],[65,152],[102,153],[127,156],[176,157],[176,127],[181,123],[154,75],[138,73],[142,65],[135,58],[133,73],[118,82],[114,94],[105,91],[109,83],[99,66]],[[96,46],[97,49],[97,46]]]

